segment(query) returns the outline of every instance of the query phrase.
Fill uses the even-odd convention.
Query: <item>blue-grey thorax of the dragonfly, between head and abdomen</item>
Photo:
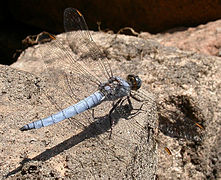
[[[129,96],[131,87],[127,81],[119,77],[111,77],[108,82],[99,86],[99,90],[105,95],[105,100],[114,101]]]

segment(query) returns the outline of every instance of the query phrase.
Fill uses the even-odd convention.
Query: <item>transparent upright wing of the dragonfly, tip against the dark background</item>
[[[84,17],[78,10],[74,8],[65,9],[64,28],[68,32],[67,41],[70,42],[70,39],[75,39],[75,42],[77,42],[77,44],[70,43],[73,51],[80,51],[82,56],[92,58],[93,73],[101,77],[102,80],[112,77],[113,73],[106,54],[93,41]],[[85,65],[88,66],[88,63]]]

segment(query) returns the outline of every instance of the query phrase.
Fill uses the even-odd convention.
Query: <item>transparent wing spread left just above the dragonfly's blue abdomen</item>
[[[41,110],[41,114],[44,115],[39,114],[35,120],[47,117],[79,102],[97,91],[98,85],[101,83],[99,78],[90,73],[90,70],[87,70],[81,61],[76,60],[77,56],[65,42],[62,42],[62,39],[57,39],[49,33],[42,33],[38,36],[37,41],[42,43],[47,39],[51,41],[37,46],[34,53],[40,59],[39,62],[36,62],[42,62],[39,65],[41,68],[35,71],[40,73],[45,82],[43,93],[47,97],[49,105],[43,103],[47,113]],[[50,110],[45,106],[49,106]],[[85,115],[82,116],[84,116],[84,121],[78,121],[75,118],[71,120],[71,124],[75,128],[87,127],[93,122],[91,116],[86,118]],[[62,126],[61,123],[59,126]]]

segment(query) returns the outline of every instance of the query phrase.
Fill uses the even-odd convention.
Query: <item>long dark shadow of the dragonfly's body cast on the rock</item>
[[[130,112],[132,109],[128,104],[121,105],[117,107],[113,113],[111,114],[114,117],[114,123],[117,124],[120,118],[128,119],[130,116]],[[88,127],[86,127],[82,132],[77,135],[70,137],[69,139],[63,141],[62,143],[45,150],[44,152],[40,153],[39,155],[33,158],[25,158],[20,162],[20,166],[16,169],[9,172],[5,177],[9,177],[13,174],[18,173],[22,170],[23,166],[30,162],[30,161],[47,161],[52,157],[57,156],[58,154],[72,148],[73,146],[81,143],[82,141],[90,138],[94,138],[100,134],[103,134],[111,129],[111,124],[109,121],[109,115],[105,115],[102,117],[96,118],[94,122],[92,122]]]

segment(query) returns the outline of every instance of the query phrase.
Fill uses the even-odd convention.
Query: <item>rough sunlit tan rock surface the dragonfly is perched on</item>
[[[98,46],[105,50],[117,75],[125,77],[133,72],[142,78],[142,88],[151,97],[147,98],[145,113],[138,114],[130,121],[120,118],[114,127],[113,138],[105,139],[105,145],[103,139],[108,136],[107,132],[100,133],[100,138],[91,137],[90,133],[82,135],[82,132],[94,129],[90,128],[94,123],[90,125],[84,115],[76,121],[66,120],[37,131],[19,132],[18,128],[23,124],[54,111],[42,90],[48,85],[49,90],[55,92],[52,93],[55,99],[61,99],[59,105],[67,103],[62,101],[65,91],[58,92],[59,88],[53,86],[54,81],[50,82],[48,77],[38,78],[45,75],[39,53],[45,49],[45,45],[42,48],[28,48],[11,66],[22,71],[11,67],[2,67],[0,71],[0,82],[4,87],[0,107],[1,174],[16,172],[15,176],[19,178],[152,179],[157,155],[156,173],[159,179],[220,178],[220,58],[163,47],[152,40],[123,35],[93,33],[93,37]],[[65,35],[59,38],[67,43]],[[68,39],[72,50],[78,53],[75,40],[71,37]],[[59,65],[59,62],[54,65]],[[91,69],[96,68],[92,66],[93,61],[87,63]],[[48,64],[53,64],[53,61],[48,61]],[[59,70],[54,73],[51,79],[62,79]],[[84,85],[88,91],[91,90],[92,87]],[[63,87],[62,84],[60,86]],[[73,86],[74,92],[78,92],[75,87],[80,86]],[[83,92],[79,95],[85,96]],[[157,116],[153,97],[156,97],[158,107],[158,128],[155,127]],[[138,102],[133,103],[139,108]],[[105,127],[102,119],[105,119],[110,107],[104,104],[95,111],[95,117],[101,117],[98,124],[102,128]],[[122,110],[126,109],[126,106],[122,107]],[[116,115],[122,117],[122,113],[116,112]],[[137,126],[135,121],[142,127]],[[155,133],[157,129],[160,130],[158,134],[151,135],[155,139],[150,139],[152,144],[146,143],[145,138],[149,133],[143,131],[143,127],[147,124],[153,127]],[[127,132],[130,132],[129,135]],[[158,142],[157,153],[154,142]],[[172,155],[166,153],[164,147],[168,147]],[[9,178],[13,178],[13,175]]]

